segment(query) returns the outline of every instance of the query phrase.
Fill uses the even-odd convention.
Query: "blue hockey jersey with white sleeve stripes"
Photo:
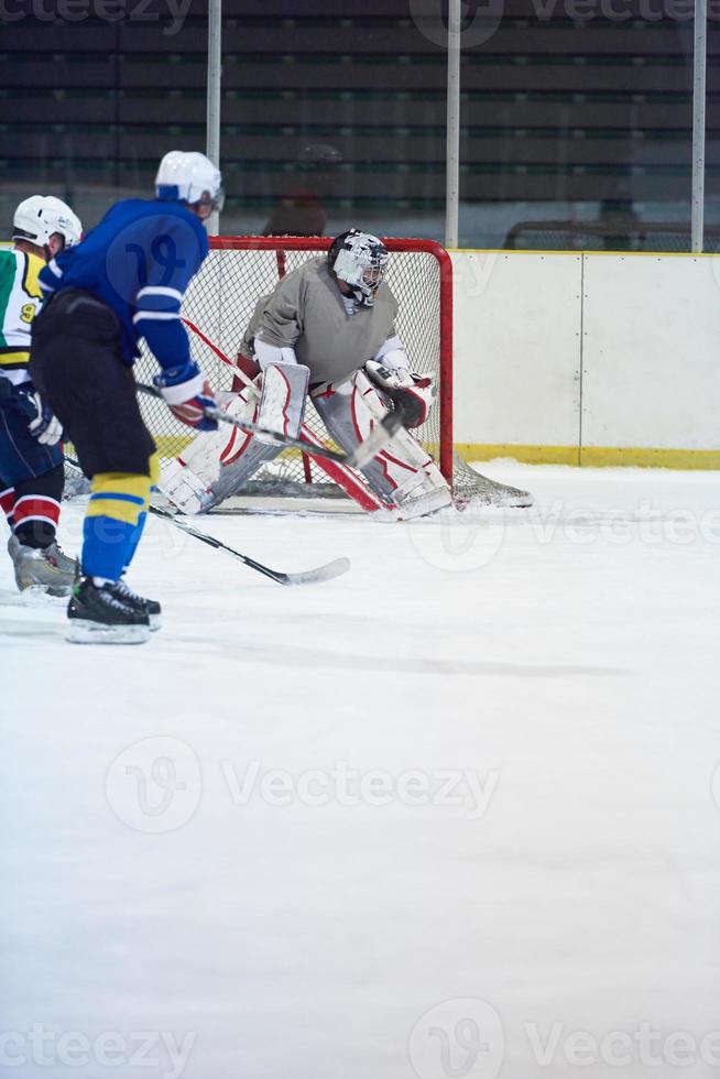
[[[83,288],[111,307],[129,366],[144,337],[162,368],[176,368],[190,360],[183,295],[207,252],[205,228],[182,203],[129,198],[48,262],[39,280],[46,295]]]

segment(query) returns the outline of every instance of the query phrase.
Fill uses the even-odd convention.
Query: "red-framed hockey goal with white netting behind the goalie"
[[[210,251],[190,282],[182,314],[234,361],[260,296],[271,293],[286,273],[327,252],[330,243],[331,238],[323,237],[211,237]],[[413,435],[435,457],[456,495],[465,501],[471,498],[476,473],[452,454],[452,263],[447,251],[430,240],[383,239],[383,243],[390,254],[385,282],[400,308],[396,331],[411,369],[432,374],[438,388],[426,422],[414,428]],[[212,389],[237,389],[237,371],[193,329],[188,333],[193,356]],[[143,345],[138,379],[148,381],[155,372],[156,364]],[[192,437],[188,428],[161,402],[143,399],[141,406],[160,456],[167,459],[179,454]],[[305,423],[332,445],[309,401]],[[327,477],[312,458],[297,453],[285,453],[265,466],[247,490],[257,491],[263,481],[287,493],[308,492],[308,483],[313,493],[339,493],[329,490]]]

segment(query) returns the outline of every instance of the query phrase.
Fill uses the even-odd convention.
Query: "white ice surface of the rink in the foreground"
[[[134,649],[0,559],[2,1079],[720,1075],[720,473],[483,470],[151,519]]]

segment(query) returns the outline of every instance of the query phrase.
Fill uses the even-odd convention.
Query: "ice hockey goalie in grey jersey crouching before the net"
[[[225,407],[271,430],[312,437],[303,427],[309,396],[346,453],[390,408],[402,410],[404,426],[363,468],[364,482],[342,466],[317,464],[366,510],[407,520],[450,505],[451,492],[411,433],[425,422],[435,386],[411,370],[396,335],[386,265],[378,237],[351,229],[336,237],[327,255],[309,259],[261,296],[239,350],[248,385]],[[199,435],[163,469],[160,486],[184,512],[199,513],[236,494],[281,451],[225,427]]]

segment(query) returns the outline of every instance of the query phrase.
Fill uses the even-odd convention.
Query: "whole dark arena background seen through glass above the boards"
[[[108,199],[148,190],[159,154],[204,145],[207,9],[67,0],[61,19],[62,7],[7,0],[2,210],[9,218],[44,184],[81,201],[92,225]],[[362,218],[378,232],[443,239],[438,14],[433,0],[226,0],[225,231],[262,232],[279,204],[312,192],[301,219],[329,233]],[[720,21],[709,15],[714,239]],[[688,0],[493,0],[465,3],[463,17],[461,246],[689,250]]]

